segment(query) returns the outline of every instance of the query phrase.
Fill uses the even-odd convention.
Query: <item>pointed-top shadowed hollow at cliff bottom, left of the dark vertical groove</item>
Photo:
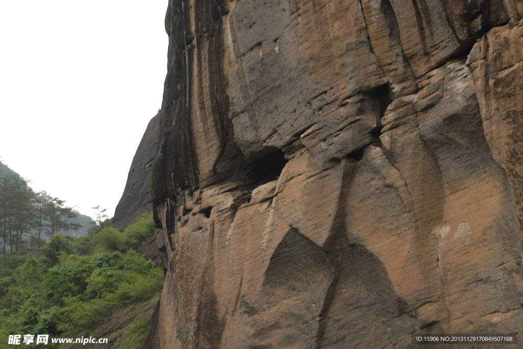
[[[242,321],[255,323],[253,345],[310,347],[333,278],[333,268],[322,249],[290,227],[265,271],[262,303],[246,308],[247,299],[242,299]],[[272,314],[280,316],[272,318]]]

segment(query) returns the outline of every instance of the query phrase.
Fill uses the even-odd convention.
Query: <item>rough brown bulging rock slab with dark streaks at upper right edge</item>
[[[483,129],[494,159],[506,170],[523,222],[523,3],[514,21],[488,32],[469,56]]]

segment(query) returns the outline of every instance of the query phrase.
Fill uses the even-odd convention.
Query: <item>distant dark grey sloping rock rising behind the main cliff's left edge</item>
[[[127,227],[142,213],[151,212],[153,209],[149,177],[156,151],[159,125],[160,115],[156,114],[147,125],[136,154],[134,154],[126,188],[123,190],[113,218],[113,224],[120,228]]]

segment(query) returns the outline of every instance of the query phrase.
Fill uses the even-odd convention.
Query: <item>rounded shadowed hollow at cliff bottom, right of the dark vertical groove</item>
[[[383,263],[372,252],[362,245],[349,245],[344,237],[338,244],[340,263],[335,291],[329,292],[331,298],[325,300],[316,348],[368,347],[371,333],[380,332],[379,322],[393,323],[394,318],[407,310],[407,305],[394,292]],[[349,312],[353,316],[344,317]],[[374,319],[381,321],[377,323]],[[403,319],[403,328],[389,331],[391,339],[398,333],[414,330],[415,318],[410,319]],[[361,333],[369,335],[361,336]],[[356,339],[364,340],[357,342]]]

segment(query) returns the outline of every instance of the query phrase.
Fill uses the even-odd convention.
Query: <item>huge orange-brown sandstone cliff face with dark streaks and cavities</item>
[[[522,17],[518,0],[170,0],[149,345],[521,331]]]

